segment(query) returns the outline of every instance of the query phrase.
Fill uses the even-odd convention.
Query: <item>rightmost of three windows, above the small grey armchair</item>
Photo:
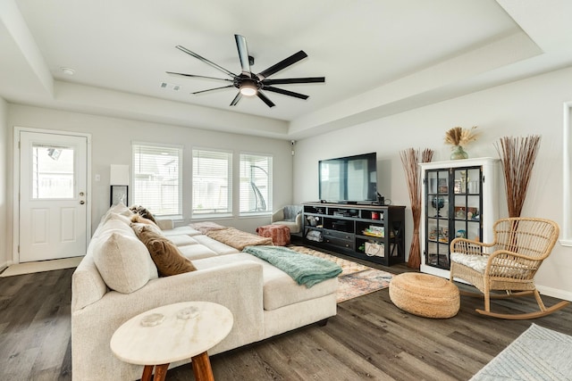
[[[272,156],[241,153],[240,214],[271,212],[272,194]]]

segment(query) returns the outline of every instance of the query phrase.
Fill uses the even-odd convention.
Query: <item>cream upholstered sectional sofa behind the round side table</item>
[[[130,227],[130,211],[114,207],[101,219],[71,279],[72,378],[134,380],[142,366],[114,357],[115,329],[141,312],[174,302],[217,302],[233,314],[231,333],[209,351],[228,351],[336,314],[337,277],[307,288],[271,264],[201,234],[159,221],[196,271],[158,277]],[[143,244],[145,250],[147,248]],[[187,361],[171,364],[179,366]]]

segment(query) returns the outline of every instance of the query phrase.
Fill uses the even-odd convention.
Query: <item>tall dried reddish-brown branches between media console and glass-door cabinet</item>
[[[421,247],[419,245],[419,225],[421,222],[421,172],[419,170],[419,151],[408,148],[400,152],[401,163],[409,190],[409,201],[413,213],[413,237],[409,248],[408,267],[419,269],[421,266]],[[425,148],[421,153],[421,162],[431,162],[433,150]]]

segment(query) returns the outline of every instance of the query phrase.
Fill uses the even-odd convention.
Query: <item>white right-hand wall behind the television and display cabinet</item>
[[[467,147],[470,157],[498,157],[500,137],[542,135],[523,216],[554,219],[562,225],[562,104],[572,100],[572,69],[554,71],[440,104],[403,112],[319,137],[300,140],[294,157],[295,203],[318,200],[317,162],[349,154],[376,152],[378,186],[393,204],[406,205],[406,246],[412,221],[400,150],[431,148],[433,162],[449,160],[443,143],[447,129],[478,126],[481,137]],[[499,186],[500,214],[508,215],[504,184]],[[486,227],[484,227],[486,228]],[[536,277],[541,292],[572,300],[572,248],[557,244]]]

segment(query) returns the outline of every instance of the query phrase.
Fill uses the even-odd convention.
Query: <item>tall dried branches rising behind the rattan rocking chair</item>
[[[522,212],[540,139],[540,135],[501,137],[494,145],[501,157],[509,217],[520,217]]]

